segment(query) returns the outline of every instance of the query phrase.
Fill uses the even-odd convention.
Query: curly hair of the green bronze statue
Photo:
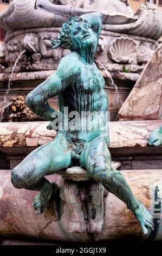
[[[61,31],[57,36],[56,40],[51,39],[51,42],[54,45],[53,48],[58,48],[59,46],[63,46],[64,48],[72,50],[73,44],[72,44],[70,32],[72,31],[72,27],[76,22],[86,22],[89,28],[91,27],[88,21],[86,21],[82,17],[70,16],[69,20],[66,23],[63,23]]]

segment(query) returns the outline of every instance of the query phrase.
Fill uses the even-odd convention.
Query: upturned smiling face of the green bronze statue
[[[76,22],[70,33],[74,50],[81,50],[95,43],[94,34],[86,22]]]

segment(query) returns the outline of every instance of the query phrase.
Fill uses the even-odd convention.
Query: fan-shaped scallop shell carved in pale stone
[[[133,39],[116,38],[109,49],[109,57],[117,63],[136,62],[137,44]]]

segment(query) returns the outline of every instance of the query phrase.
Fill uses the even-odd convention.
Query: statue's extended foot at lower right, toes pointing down
[[[135,216],[141,225],[144,235],[148,234],[148,229],[154,230],[152,214],[140,202],[135,210]]]

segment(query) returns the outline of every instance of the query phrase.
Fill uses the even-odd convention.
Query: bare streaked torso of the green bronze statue
[[[104,90],[105,81],[94,63],[88,65],[79,60],[77,63],[74,62],[74,65],[77,65],[79,72],[69,78],[68,87],[59,95],[59,106],[63,115],[64,107],[68,107],[68,114],[72,114],[69,116],[69,120],[74,119],[74,111],[77,113],[76,123],[80,123],[79,129],[74,132],[67,131],[70,138],[89,141],[100,136],[101,130],[107,132],[108,129],[106,116],[108,100]],[[85,116],[87,112],[89,112],[89,116]]]

